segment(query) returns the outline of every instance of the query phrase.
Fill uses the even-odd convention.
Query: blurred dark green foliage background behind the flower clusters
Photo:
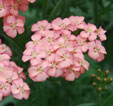
[[[89,71],[73,82],[65,81],[63,78],[49,78],[45,82],[35,83],[27,78],[26,81],[31,88],[30,98],[19,101],[10,96],[0,102],[0,106],[95,106],[97,93],[91,86],[90,74],[96,73],[98,68],[103,71],[109,69],[110,76],[113,77],[113,0],[36,0],[34,4],[30,4],[28,11],[20,14],[26,17],[24,34],[15,39],[9,38],[3,32],[0,19],[0,37],[11,47],[12,60],[24,67],[26,75],[29,62],[22,62],[22,52],[26,42],[30,40],[31,25],[38,20],[52,21],[56,17],[84,16],[86,22],[96,24],[97,27],[101,25],[107,30],[107,40],[103,45],[108,54],[101,63],[87,58],[90,62]],[[102,94],[102,101],[112,92],[113,84]],[[113,102],[108,106],[113,106]]]

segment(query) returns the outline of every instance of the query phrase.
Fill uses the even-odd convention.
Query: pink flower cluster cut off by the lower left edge
[[[0,101],[13,95],[16,99],[28,99],[29,86],[23,81],[26,77],[23,68],[10,61],[12,51],[0,40]]]

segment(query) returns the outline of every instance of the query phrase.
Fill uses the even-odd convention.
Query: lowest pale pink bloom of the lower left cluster
[[[11,86],[11,92],[16,99],[28,99],[30,88],[22,79],[17,79]]]

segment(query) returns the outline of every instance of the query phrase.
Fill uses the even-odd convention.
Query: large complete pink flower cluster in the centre
[[[106,31],[85,23],[82,16],[56,18],[51,23],[38,21],[32,25],[31,31],[34,32],[32,41],[26,44],[22,60],[30,60],[29,77],[36,82],[49,77],[65,77],[73,81],[89,69],[84,53],[98,62],[106,54],[102,46]]]

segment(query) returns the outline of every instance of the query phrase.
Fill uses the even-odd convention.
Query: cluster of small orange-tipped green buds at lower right
[[[107,89],[107,86],[113,82],[113,78],[109,77],[109,70],[102,72],[98,69],[97,74],[91,74],[92,86],[97,89],[98,92]]]

